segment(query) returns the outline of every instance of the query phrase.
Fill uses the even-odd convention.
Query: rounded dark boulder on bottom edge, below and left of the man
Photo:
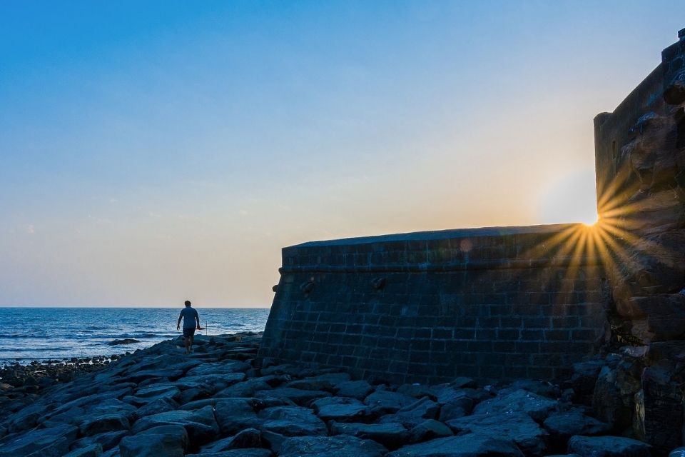
[[[121,457],[183,457],[188,448],[186,428],[166,425],[148,428],[119,443]]]

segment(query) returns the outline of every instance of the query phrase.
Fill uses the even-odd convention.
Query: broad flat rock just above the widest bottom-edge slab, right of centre
[[[524,453],[544,456],[549,434],[524,412],[474,414],[447,421],[455,433],[470,432],[486,438],[506,437],[516,443]]]

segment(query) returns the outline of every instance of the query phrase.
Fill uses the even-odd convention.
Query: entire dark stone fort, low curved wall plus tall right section
[[[644,355],[641,390],[626,400],[640,411],[637,436],[663,428],[650,425],[658,416],[646,411],[650,404],[666,405],[677,428],[685,380],[671,361],[685,360],[685,31],[594,127],[597,226],[284,248],[260,357],[438,382],[559,378],[585,356],[626,345]],[[652,373],[664,363],[672,369]]]

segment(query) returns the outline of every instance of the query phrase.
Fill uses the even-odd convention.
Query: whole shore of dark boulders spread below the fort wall
[[[330,369],[258,366],[259,342],[254,333],[198,336],[186,356],[177,338],[88,363],[96,371],[66,383],[15,386],[29,401],[16,409],[3,403],[0,457],[654,454],[641,441],[612,436],[612,426],[582,404],[588,376],[598,376],[588,366],[564,386],[470,378],[392,386]],[[52,365],[54,373],[67,369]]]

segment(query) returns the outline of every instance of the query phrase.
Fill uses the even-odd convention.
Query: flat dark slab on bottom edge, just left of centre
[[[283,441],[279,457],[382,457],[387,452],[380,444],[349,435],[298,436]]]

